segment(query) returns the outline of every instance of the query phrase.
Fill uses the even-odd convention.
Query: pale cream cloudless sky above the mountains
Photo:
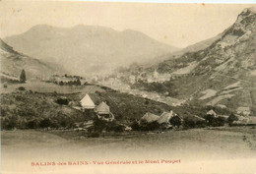
[[[87,25],[139,30],[182,48],[216,36],[231,26],[244,8],[252,6],[255,5],[2,0],[0,37],[19,34],[36,25]]]

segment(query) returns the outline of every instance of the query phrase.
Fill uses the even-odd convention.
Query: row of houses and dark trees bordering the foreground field
[[[107,132],[129,133],[131,131],[146,131],[157,133],[169,130],[178,131],[193,128],[253,125],[253,123],[250,124],[251,120],[246,120],[246,117],[242,117],[244,113],[239,113],[239,115],[232,113],[230,115],[220,115],[213,109],[208,110],[204,117],[190,115],[190,118],[174,113],[171,109],[161,112],[160,115],[146,111],[141,117],[139,116],[139,119],[125,123],[119,119],[118,121],[116,120],[106,101],[102,100],[99,104],[96,104],[91,98],[90,93],[86,93],[79,103],[79,105],[72,107],[85,113],[84,116],[89,117],[89,119],[83,123],[75,123],[72,129],[85,133],[97,133],[97,136]],[[46,130],[52,129],[48,128]]]

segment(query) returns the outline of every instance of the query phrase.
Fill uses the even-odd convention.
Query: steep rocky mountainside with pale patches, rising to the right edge
[[[139,74],[138,67],[130,69],[125,76],[135,76],[131,87],[256,115],[255,9],[245,9],[220,35],[205,49],[162,61]]]

